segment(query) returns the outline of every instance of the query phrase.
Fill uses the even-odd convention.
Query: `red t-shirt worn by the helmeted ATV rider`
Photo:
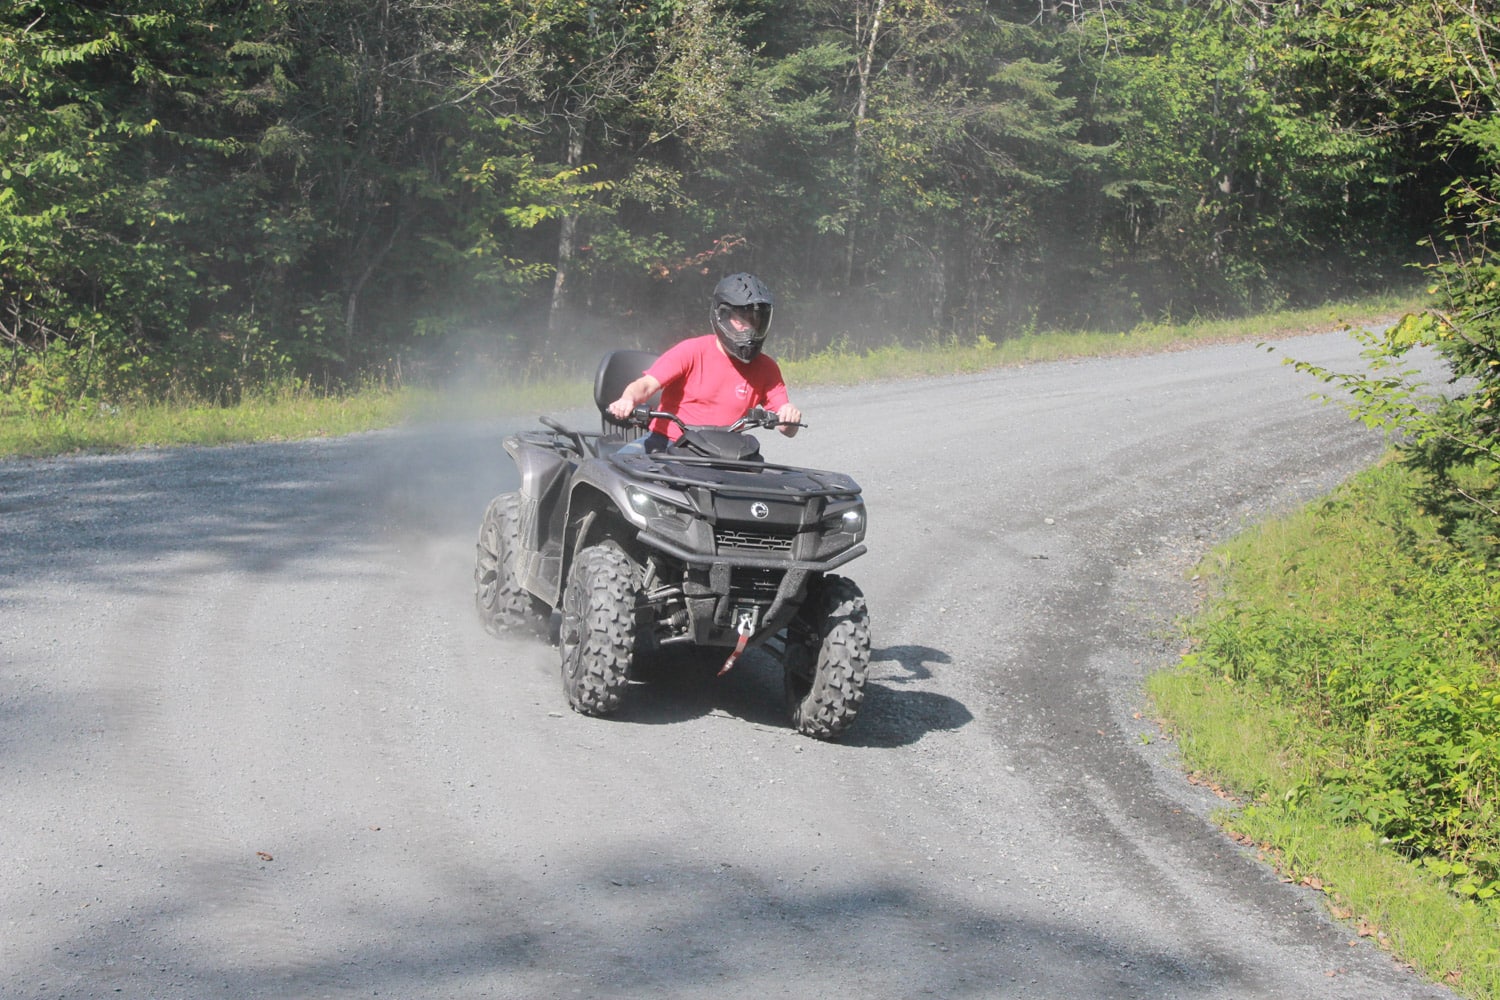
[[[690,427],[728,427],[750,412],[752,406],[778,409],[788,402],[782,366],[765,354],[742,364],[718,349],[718,337],[690,337],[669,348],[645,370],[662,382],[662,405]],[[660,417],[651,430],[672,441],[681,429]]]

